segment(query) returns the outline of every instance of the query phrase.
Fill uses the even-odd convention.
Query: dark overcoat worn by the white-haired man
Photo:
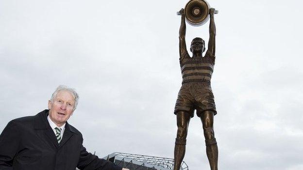
[[[7,124],[0,135],[0,170],[121,170],[88,153],[82,134],[68,123],[58,144],[48,113],[44,110]]]

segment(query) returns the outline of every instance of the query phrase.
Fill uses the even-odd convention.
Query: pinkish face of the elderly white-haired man
[[[57,93],[53,101],[49,100],[50,120],[57,126],[62,126],[72,115],[75,100],[71,93],[67,91]]]

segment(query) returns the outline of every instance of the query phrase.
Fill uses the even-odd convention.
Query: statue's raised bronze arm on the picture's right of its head
[[[216,52],[216,25],[214,21],[215,8],[210,8],[210,23],[209,23],[209,40],[207,51],[211,52],[215,56]]]

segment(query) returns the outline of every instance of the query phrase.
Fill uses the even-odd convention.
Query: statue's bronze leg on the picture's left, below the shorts
[[[174,170],[180,170],[180,166],[185,155],[187,128],[190,118],[191,114],[187,112],[178,111],[177,113],[178,131],[174,150]]]

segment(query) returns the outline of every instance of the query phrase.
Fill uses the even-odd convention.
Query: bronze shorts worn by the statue
[[[185,111],[194,117],[194,110],[202,113],[205,110],[214,111],[217,114],[214,94],[208,83],[184,83],[178,93],[174,114]]]

